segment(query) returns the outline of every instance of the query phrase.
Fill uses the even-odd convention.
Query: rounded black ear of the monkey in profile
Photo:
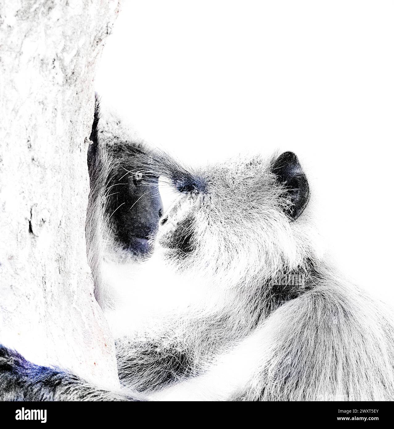
[[[291,202],[291,205],[285,209],[285,213],[295,221],[309,201],[307,176],[298,161],[297,155],[293,152],[283,152],[274,161],[271,171],[286,189],[285,198]]]

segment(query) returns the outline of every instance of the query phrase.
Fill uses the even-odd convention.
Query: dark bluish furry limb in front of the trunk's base
[[[100,389],[69,372],[38,366],[0,344],[2,401],[142,401],[142,396]]]

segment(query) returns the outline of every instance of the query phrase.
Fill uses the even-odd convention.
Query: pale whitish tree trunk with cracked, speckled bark
[[[0,344],[116,386],[84,225],[111,0],[0,0]]]

